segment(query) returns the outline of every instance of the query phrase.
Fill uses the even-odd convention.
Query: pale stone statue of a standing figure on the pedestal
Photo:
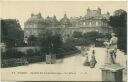
[[[115,33],[111,34],[111,39],[109,42],[104,42],[107,48],[106,54],[106,64],[115,64],[116,63],[116,52],[117,52],[117,41],[118,38],[115,36]]]

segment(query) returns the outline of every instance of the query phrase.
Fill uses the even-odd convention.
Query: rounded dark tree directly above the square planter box
[[[51,30],[42,32],[39,42],[42,51],[46,54],[55,54],[57,49],[63,44],[61,35],[57,33],[53,34]]]

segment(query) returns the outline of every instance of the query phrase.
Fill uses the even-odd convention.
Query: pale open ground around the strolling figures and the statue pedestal
[[[56,64],[40,62],[26,66],[2,68],[2,79],[101,81],[100,66],[104,64],[105,48],[95,48],[95,50],[97,60],[95,68],[83,66],[85,56],[76,54],[63,60],[59,59]],[[117,52],[117,62],[126,67],[126,55],[121,51]],[[12,74],[12,72],[15,72],[15,74]],[[126,81],[126,70],[123,71],[123,80]]]

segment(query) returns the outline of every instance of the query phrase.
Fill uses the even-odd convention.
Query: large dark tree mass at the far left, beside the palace
[[[5,42],[7,46],[13,47],[19,41],[23,41],[24,33],[21,29],[19,21],[16,19],[2,19],[1,20],[1,41]]]

